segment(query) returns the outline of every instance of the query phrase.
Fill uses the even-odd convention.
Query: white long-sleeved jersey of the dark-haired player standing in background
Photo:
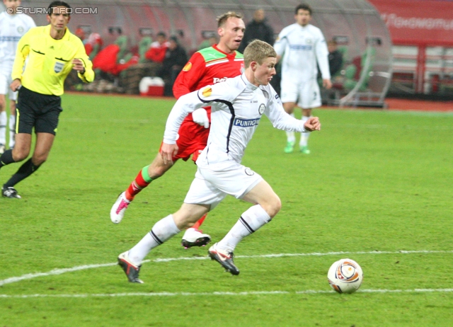
[[[326,40],[321,30],[314,25],[302,27],[294,23],[283,28],[274,48],[278,55],[285,54],[282,59],[282,80],[299,82],[316,78],[316,59],[323,79],[331,78]]]

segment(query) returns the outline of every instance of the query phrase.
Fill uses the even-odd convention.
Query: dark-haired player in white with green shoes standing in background
[[[319,65],[323,86],[331,88],[331,73],[328,69],[328,50],[321,30],[311,21],[311,7],[300,4],[296,7],[296,23],[289,25],[280,32],[274,48],[277,61],[282,58],[281,98],[285,111],[294,116],[294,108],[302,108],[302,121],[311,117],[311,109],[321,107],[316,76]],[[302,133],[299,142],[300,151],[309,154],[308,139],[310,133]],[[294,132],[287,132],[286,153],[294,151],[296,137]]]

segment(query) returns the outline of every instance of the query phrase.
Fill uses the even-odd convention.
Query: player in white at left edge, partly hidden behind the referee
[[[25,13],[17,14],[16,9],[21,6],[21,0],[3,0],[6,11],[0,13],[0,154],[6,146],[6,94],[9,98],[9,147],[14,147],[16,134],[16,99],[17,92],[11,91],[11,73],[19,39],[30,28],[35,27],[33,18]]]

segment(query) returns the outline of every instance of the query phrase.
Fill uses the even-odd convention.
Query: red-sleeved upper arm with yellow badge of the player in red
[[[205,70],[205,59],[199,52],[195,52],[178,74],[173,84],[173,95],[178,99],[180,96],[197,90],[198,82],[202,79]]]

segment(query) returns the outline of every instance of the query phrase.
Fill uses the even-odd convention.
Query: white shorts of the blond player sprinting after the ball
[[[228,194],[241,199],[261,180],[263,177],[258,173],[236,161],[198,167],[184,203],[211,205],[212,210]]]

